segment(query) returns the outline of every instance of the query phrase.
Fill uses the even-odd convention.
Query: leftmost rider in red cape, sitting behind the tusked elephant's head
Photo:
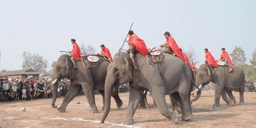
[[[75,59],[76,60],[82,60],[83,57],[81,56],[80,48],[76,44],[76,40],[75,39],[71,39],[71,43],[73,44],[73,49],[69,53],[71,54],[71,61],[74,64],[74,68],[76,68]]]

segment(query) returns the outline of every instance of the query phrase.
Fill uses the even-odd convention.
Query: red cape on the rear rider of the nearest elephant
[[[172,48],[172,51],[178,56],[181,60],[186,62],[182,52],[180,51],[180,48],[176,44],[175,40],[170,36],[169,39],[166,40],[167,45],[169,45]]]

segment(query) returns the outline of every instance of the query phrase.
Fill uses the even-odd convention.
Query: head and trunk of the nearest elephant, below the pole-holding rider
[[[105,81],[105,109],[101,118],[101,123],[108,116],[110,110],[111,91],[118,89],[118,85],[127,84],[132,80],[134,66],[129,54],[121,52],[119,57],[114,58],[113,63],[108,66],[108,73]]]

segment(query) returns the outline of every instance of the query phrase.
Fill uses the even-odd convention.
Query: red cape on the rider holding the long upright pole
[[[135,50],[139,51],[143,56],[146,57],[148,55],[148,49],[145,42],[140,39],[136,34],[132,34],[128,41],[132,42],[132,44],[135,46]]]

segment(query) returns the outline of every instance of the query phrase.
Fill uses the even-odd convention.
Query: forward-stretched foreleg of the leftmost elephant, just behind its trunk
[[[73,100],[81,91],[81,85],[72,85],[70,86],[68,93],[66,94],[65,98],[62,101],[62,104],[57,110],[59,112],[66,112],[66,107],[68,106],[69,102]]]

